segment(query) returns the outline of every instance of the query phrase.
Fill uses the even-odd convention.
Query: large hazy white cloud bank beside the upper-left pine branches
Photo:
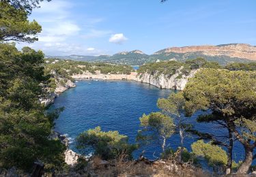
[[[91,46],[95,44],[90,44],[92,39],[109,37],[112,33],[112,31],[96,29],[96,25],[104,18],[75,14],[77,4],[68,0],[43,1],[40,6],[29,16],[29,20],[35,19],[42,25],[38,42],[18,44],[18,48],[29,45],[35,50],[42,50],[46,55],[98,55],[108,52],[92,48]],[[86,17],[80,20],[80,15]]]

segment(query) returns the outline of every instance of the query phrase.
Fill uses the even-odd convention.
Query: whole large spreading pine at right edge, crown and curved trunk
[[[186,112],[212,110],[212,118],[224,123],[229,134],[244,146],[239,174],[246,174],[256,147],[256,72],[201,69],[184,89]],[[205,116],[209,118],[209,116]],[[231,138],[231,136],[229,138]]]

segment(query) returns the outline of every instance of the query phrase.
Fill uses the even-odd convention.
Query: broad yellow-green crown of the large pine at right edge
[[[256,107],[256,73],[201,69],[184,89],[186,110],[208,108],[223,116],[251,116]]]

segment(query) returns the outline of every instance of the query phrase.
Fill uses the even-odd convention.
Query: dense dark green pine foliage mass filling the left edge
[[[46,170],[63,164],[64,145],[49,139],[57,114],[45,114],[38,101],[41,84],[48,83],[43,57],[41,51],[0,44],[1,168],[29,170],[38,159]]]

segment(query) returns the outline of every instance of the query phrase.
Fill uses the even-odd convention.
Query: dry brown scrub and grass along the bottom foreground
[[[175,161],[126,161],[126,155],[113,161],[102,161],[93,157],[84,166],[72,167],[69,172],[57,176],[212,176],[189,163],[178,164]]]

